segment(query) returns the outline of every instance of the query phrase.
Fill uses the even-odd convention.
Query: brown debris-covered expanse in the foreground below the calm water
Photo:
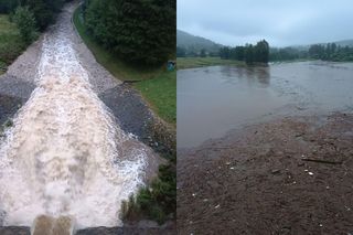
[[[292,117],[179,151],[179,234],[352,234],[353,115]]]

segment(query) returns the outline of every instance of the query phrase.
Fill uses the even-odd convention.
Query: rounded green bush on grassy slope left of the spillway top
[[[13,20],[20,30],[22,40],[30,44],[36,36],[35,19],[29,7],[19,7],[15,10]]]

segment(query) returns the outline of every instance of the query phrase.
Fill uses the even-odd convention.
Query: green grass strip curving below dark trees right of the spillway
[[[150,107],[167,122],[176,122],[176,73],[165,71],[165,66],[137,67],[125,63],[111,52],[99,45],[87,34],[79,8],[74,12],[76,29],[95,55],[97,62],[120,81],[141,81],[133,84]]]

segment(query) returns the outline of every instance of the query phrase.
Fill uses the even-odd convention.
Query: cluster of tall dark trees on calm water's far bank
[[[266,40],[261,40],[253,44],[246,44],[245,46],[224,46],[220,50],[220,56],[224,60],[237,60],[245,61],[247,64],[253,63],[268,63],[269,60],[269,44]]]

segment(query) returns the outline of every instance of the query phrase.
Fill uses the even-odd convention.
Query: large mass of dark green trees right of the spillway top
[[[125,61],[159,65],[175,56],[175,0],[86,0],[88,33]]]

